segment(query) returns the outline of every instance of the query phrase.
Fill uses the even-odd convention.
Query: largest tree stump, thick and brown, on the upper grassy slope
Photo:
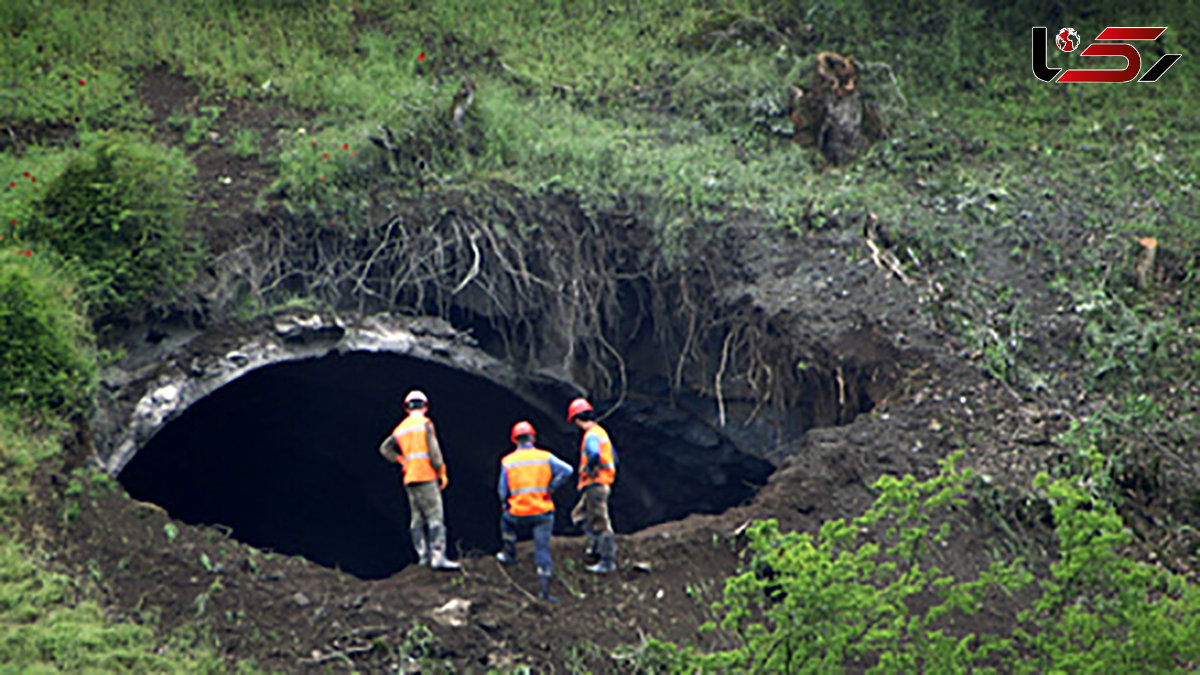
[[[833,52],[817,54],[809,88],[792,89],[792,139],[816,148],[834,165],[854,161],[883,138],[883,119],[858,86],[853,59]]]

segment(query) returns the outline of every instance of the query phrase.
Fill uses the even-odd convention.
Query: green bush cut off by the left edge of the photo
[[[72,412],[96,381],[96,356],[72,285],[41,256],[0,253],[0,407]]]

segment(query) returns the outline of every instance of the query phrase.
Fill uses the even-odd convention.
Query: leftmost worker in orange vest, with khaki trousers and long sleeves
[[[458,569],[457,562],[446,560],[442,490],[450,479],[433,422],[426,417],[428,398],[414,389],[404,396],[404,410],[408,417],[379,444],[379,454],[403,468],[404,491],[408,492],[408,508],[413,514],[408,532],[413,537],[419,563],[433,569]]]

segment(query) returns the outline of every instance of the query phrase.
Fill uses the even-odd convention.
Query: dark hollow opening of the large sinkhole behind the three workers
[[[358,352],[254,370],[168,423],[120,480],[134,498],[186,522],[223,525],[248,544],[358,577],[386,577],[415,560],[398,467],[378,454],[410,388],[428,394],[446,454],[452,550],[497,550],[496,483],[511,425],[529,419],[539,444],[572,466],[578,432],[490,380],[412,357]],[[772,468],[665,404],[626,402],[605,426],[620,456],[611,502],[619,532],[721,512]],[[571,532],[575,498],[574,480],[554,495],[556,531]]]

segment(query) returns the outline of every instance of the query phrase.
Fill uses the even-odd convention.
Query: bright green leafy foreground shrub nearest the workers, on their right
[[[706,655],[706,665],[754,671],[860,669],[877,659],[889,671],[961,671],[1007,640],[948,635],[941,620],[972,614],[988,589],[1015,589],[1030,575],[1016,563],[994,563],[978,580],[956,580],[925,566],[929,546],[950,536],[934,516],[960,503],[970,472],[954,468],[924,483],[883,476],[880,497],[853,522],[827,521],[820,534],[780,533],[774,520],[748,530],[752,560],[730,579],[719,603],[721,627],[739,649]],[[874,532],[866,539],[866,532]],[[925,613],[919,595],[940,597]]]

